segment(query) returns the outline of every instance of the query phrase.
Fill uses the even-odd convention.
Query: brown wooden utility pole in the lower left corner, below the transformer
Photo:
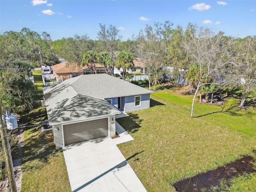
[[[5,157],[7,174],[8,174],[8,179],[9,179],[10,191],[17,192],[13,164],[12,164],[12,154],[11,154],[11,150],[10,150],[8,135],[5,135],[4,130],[3,130],[3,128],[5,126],[4,126],[4,121],[2,119],[2,116],[3,116],[3,112],[2,112],[2,105],[1,105],[1,101],[0,101],[0,118],[1,118],[0,134],[1,134],[1,140],[2,140],[3,149],[4,149],[4,157]]]

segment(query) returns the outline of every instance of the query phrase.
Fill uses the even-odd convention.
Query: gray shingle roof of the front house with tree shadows
[[[140,86],[107,74],[81,75],[44,88],[50,124],[119,114],[119,110],[104,98],[150,93]]]

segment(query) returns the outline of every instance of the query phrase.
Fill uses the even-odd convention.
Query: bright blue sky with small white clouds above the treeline
[[[255,0],[1,0],[0,33],[24,27],[52,40],[74,34],[97,39],[99,24],[120,29],[122,40],[138,35],[146,24],[172,22],[205,26],[227,36],[256,35]]]

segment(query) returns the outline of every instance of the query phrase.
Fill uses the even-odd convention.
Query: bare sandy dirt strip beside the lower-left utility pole
[[[21,189],[21,178],[22,178],[22,151],[24,146],[24,132],[23,130],[18,130],[13,134],[14,138],[18,141],[17,147],[12,151],[12,162],[14,167],[14,175],[16,181],[17,191],[20,192]],[[0,181],[0,191],[9,192],[9,181],[6,177],[5,180]]]

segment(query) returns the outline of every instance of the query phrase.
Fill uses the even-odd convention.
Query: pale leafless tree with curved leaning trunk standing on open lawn
[[[200,87],[210,83],[218,84],[218,71],[225,65],[235,62],[238,56],[231,52],[236,41],[232,38],[224,41],[222,32],[215,35],[208,28],[198,28],[192,24],[188,24],[186,32],[188,35],[183,41],[183,48],[194,58],[200,70],[191,107],[190,116],[193,117],[194,102]],[[203,82],[209,78],[213,82]]]

